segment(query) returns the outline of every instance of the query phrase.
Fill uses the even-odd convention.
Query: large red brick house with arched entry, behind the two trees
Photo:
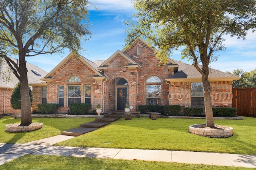
[[[68,112],[71,103],[100,104],[103,111],[124,110],[126,103],[140,105],[181,105],[204,107],[201,74],[194,66],[168,59],[159,66],[157,49],[138,38],[107,60],[89,61],[70,53],[33,86],[33,110],[42,101],[59,104]],[[232,81],[237,76],[210,68],[212,106],[232,107]],[[47,92],[45,92],[47,90]],[[42,94],[47,97],[42,98]]]

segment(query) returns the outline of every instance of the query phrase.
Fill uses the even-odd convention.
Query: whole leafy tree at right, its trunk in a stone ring
[[[156,56],[166,62],[173,50],[192,60],[202,75],[206,126],[214,127],[209,83],[209,63],[214,52],[225,50],[223,35],[245,38],[255,18],[254,0],[133,0],[135,23],[127,30],[129,45],[142,37],[158,47]],[[202,67],[198,63],[202,63]]]

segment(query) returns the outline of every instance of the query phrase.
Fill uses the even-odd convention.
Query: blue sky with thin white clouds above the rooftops
[[[80,53],[90,61],[108,59],[117,50],[124,49],[125,29],[124,21],[132,20],[135,10],[130,0],[91,0],[97,10],[90,10],[89,20],[92,38],[83,42],[85,51]],[[249,32],[246,40],[226,36],[226,51],[218,52],[218,60],[210,66],[223,72],[239,68],[250,72],[256,68],[256,33]],[[28,63],[32,63],[46,72],[50,72],[70,52],[64,50],[64,54],[39,55],[27,57]],[[180,51],[174,51],[171,59],[191,64],[187,59],[180,59]]]

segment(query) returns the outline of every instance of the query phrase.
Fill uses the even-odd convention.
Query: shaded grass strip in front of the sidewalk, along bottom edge
[[[251,168],[180,164],[140,160],[79,158],[70,156],[25,155],[0,166],[1,170],[250,170]]]

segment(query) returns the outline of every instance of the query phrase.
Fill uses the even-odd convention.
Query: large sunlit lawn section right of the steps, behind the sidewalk
[[[214,123],[234,128],[234,135],[226,139],[201,137],[188,133],[188,126],[205,123],[205,119],[151,120],[147,117],[125,121],[119,119],[96,131],[57,143],[76,147],[120,149],[186,150],[256,155],[256,119],[215,119]]]

